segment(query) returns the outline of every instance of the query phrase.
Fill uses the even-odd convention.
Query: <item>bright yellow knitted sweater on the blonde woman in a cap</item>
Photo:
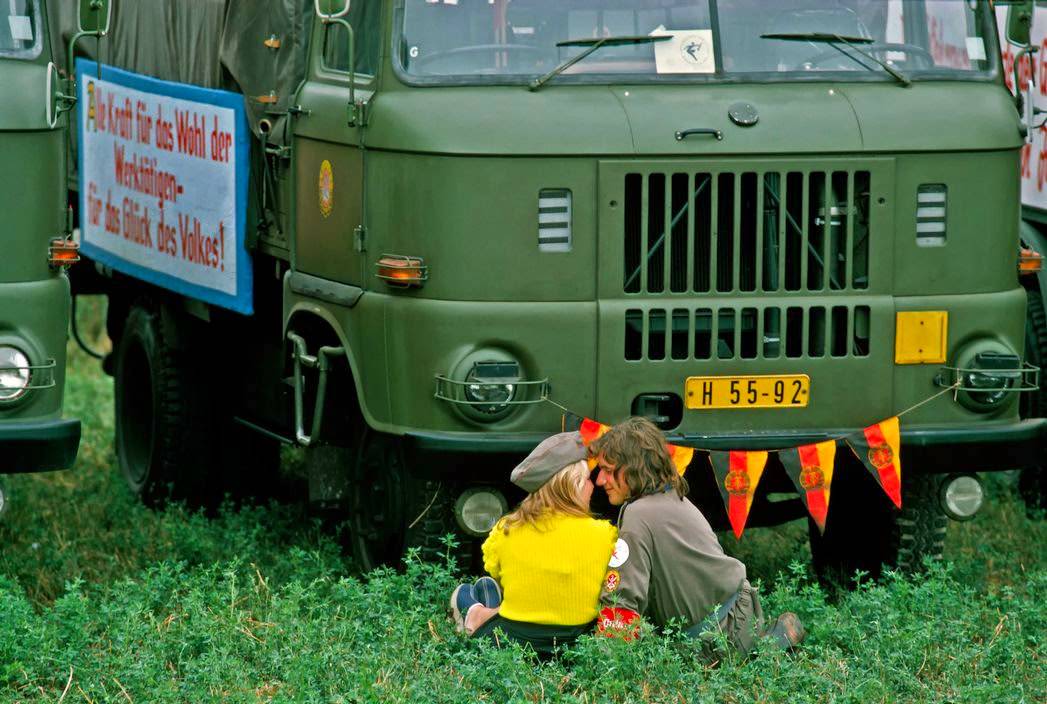
[[[551,515],[537,526],[503,522],[484,542],[484,569],[502,585],[502,615],[545,625],[596,618],[618,530],[607,521]]]

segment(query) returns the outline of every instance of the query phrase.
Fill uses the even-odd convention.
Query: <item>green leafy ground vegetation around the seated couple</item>
[[[722,535],[765,611],[808,624],[797,654],[705,666],[688,643],[648,634],[583,639],[541,663],[454,633],[448,564],[361,575],[295,505],[140,506],[115,469],[111,381],[80,353],[71,368],[76,468],[5,480],[2,702],[1047,701],[1047,528],[1008,477],[987,483],[975,521],[952,525],[928,574],[839,598],[809,573],[802,524]]]

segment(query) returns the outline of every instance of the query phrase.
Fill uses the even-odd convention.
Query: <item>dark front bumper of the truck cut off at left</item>
[[[52,471],[72,466],[80,420],[0,422],[0,472]]]

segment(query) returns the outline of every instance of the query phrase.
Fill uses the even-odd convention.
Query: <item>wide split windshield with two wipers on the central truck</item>
[[[403,1],[400,65],[437,81],[524,82],[584,51],[578,40],[641,35],[668,39],[604,45],[557,80],[894,80],[883,64],[986,79],[998,64],[986,0]]]

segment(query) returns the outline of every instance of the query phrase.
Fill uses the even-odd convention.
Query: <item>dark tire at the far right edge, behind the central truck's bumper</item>
[[[1026,289],[1028,307],[1025,314],[1025,360],[1040,368],[1040,391],[1022,394],[1022,418],[1047,417],[1047,311],[1043,293]],[[1023,467],[1018,476],[1018,490],[1025,501],[1029,516],[1041,516],[1047,511],[1047,448],[1038,465]]]

